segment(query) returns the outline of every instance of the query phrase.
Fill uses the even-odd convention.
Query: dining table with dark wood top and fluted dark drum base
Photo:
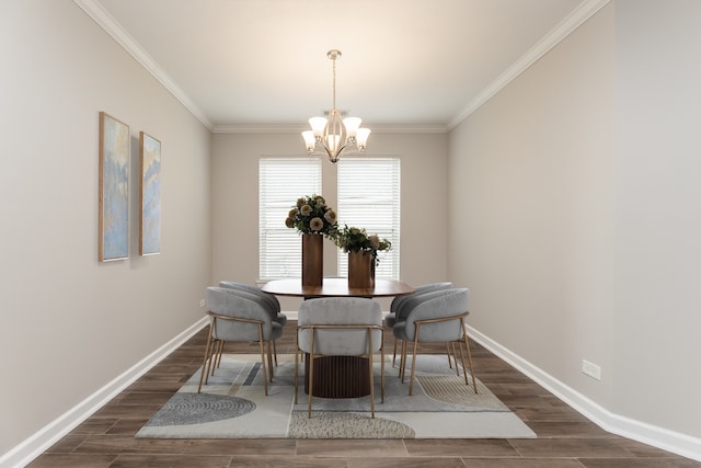
[[[375,279],[368,288],[348,287],[345,277],[325,277],[320,286],[302,285],[301,278],[269,281],[262,288],[276,296],[302,297],[397,297],[414,293],[414,288],[401,281]],[[309,375],[309,355],[304,356],[304,376]],[[357,398],[370,395],[369,359],[360,356],[323,356],[314,361],[314,381],[304,377],[304,392],[314,397]]]

